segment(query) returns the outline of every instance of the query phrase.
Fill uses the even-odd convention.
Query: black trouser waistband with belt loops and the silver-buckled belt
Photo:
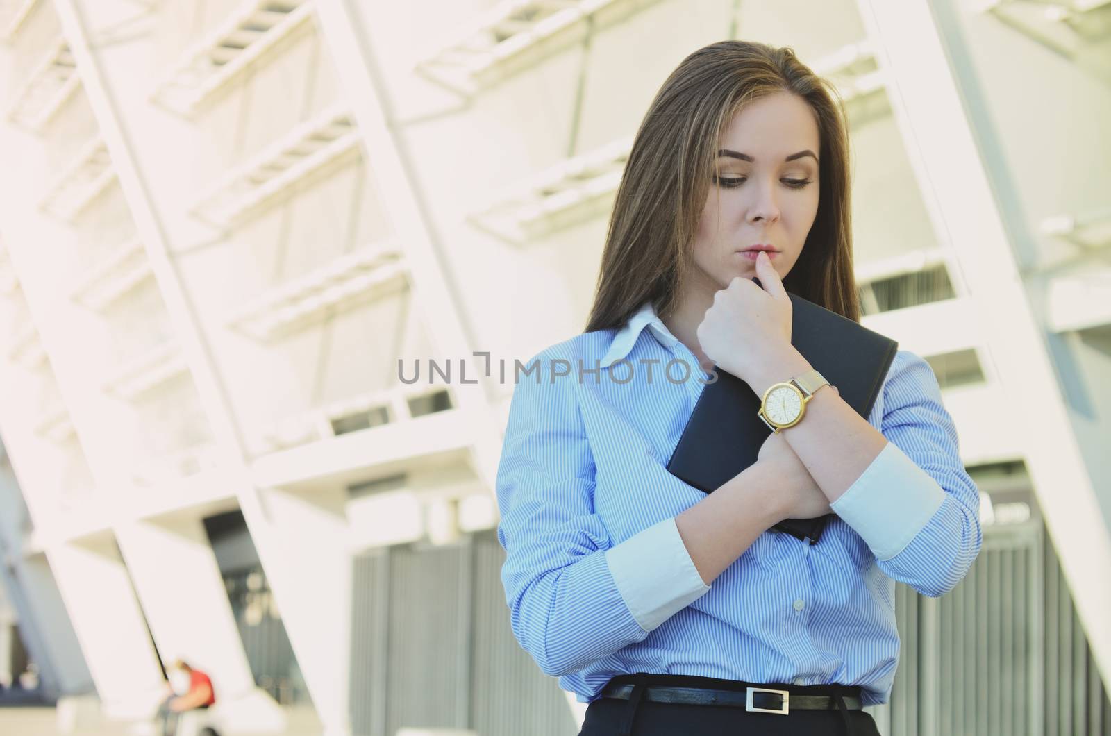
[[[815,693],[824,690],[827,695]],[[852,733],[849,710],[861,710],[859,686],[770,686],[712,677],[690,675],[659,675],[637,673],[618,675],[602,688],[601,696],[628,700],[621,736],[632,734],[637,707],[641,700],[710,705],[744,708],[751,713],[770,713],[785,716],[791,710],[837,710],[844,725],[844,733]]]

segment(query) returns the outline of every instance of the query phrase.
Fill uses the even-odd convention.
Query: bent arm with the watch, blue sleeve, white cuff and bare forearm
[[[809,369],[797,352],[785,355],[753,388]],[[980,551],[980,495],[964,470],[930,365],[900,350],[882,390],[882,431],[827,388],[814,394],[801,422],[782,431],[830,508],[864,539],[880,568],[939,597],[957,586]]]

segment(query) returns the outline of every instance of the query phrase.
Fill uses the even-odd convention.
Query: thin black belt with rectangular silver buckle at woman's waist
[[[628,700],[635,685],[607,685],[602,696]],[[860,698],[852,695],[841,696],[844,707],[849,710],[860,710]],[[662,687],[649,685],[644,688],[643,698],[652,703],[683,703],[685,705],[721,705],[744,708],[753,713],[774,713],[782,716],[793,710],[832,710],[837,707],[837,697],[829,695],[791,695],[790,690],[771,687],[747,687],[744,690],[712,690],[701,687]]]

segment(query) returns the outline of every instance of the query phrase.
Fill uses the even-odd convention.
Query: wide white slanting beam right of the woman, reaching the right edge
[[[1084,464],[1041,328],[1008,240],[1011,228],[991,186],[992,172],[977,137],[992,136],[988,121],[962,105],[978,98],[974,70],[961,51],[955,9],[939,0],[858,0],[875,42],[897,123],[939,237],[948,238],[969,285],[969,300],[997,359],[1013,411],[999,421],[1023,428],[1025,461],[1045,526],[1084,625],[1093,658],[1111,682],[1111,533]],[[947,49],[959,52],[954,62]],[[955,69],[957,77],[951,69]]]

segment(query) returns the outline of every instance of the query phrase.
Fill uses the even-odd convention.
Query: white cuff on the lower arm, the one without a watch
[[[663,519],[605,550],[621,598],[651,631],[710,589],[702,581],[675,517]]]

